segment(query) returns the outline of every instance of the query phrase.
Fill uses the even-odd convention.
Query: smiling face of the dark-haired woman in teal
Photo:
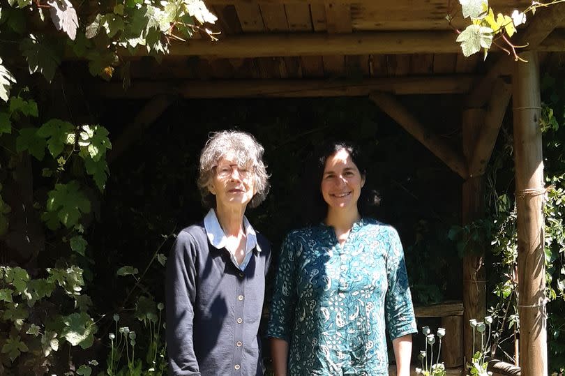
[[[364,185],[365,176],[361,175],[347,150],[336,151],[326,160],[320,188],[329,208],[356,208]]]

